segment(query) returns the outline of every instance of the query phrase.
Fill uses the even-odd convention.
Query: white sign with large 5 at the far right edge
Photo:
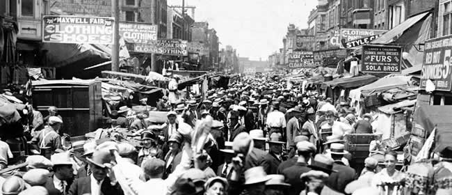
[[[437,91],[451,91],[452,36],[427,40],[423,50],[421,89],[430,79]]]

